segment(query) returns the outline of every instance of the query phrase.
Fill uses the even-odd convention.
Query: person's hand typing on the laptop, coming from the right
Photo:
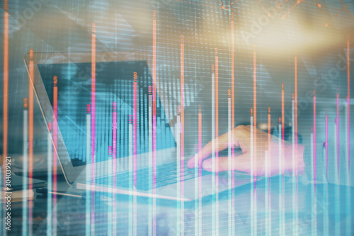
[[[251,125],[239,125],[231,132],[232,147],[240,147],[242,154],[231,157],[231,169],[240,172],[251,174]],[[215,139],[215,152],[221,152],[228,147],[229,133],[225,133]],[[256,137],[256,138],[254,138]],[[270,137],[270,142],[268,140]],[[269,142],[269,143],[268,143]],[[270,145],[269,145],[270,144]],[[281,156],[279,157],[280,149],[282,148]],[[294,160],[295,167],[293,168],[292,144],[290,142],[280,140],[278,137],[268,135],[268,133],[253,128],[253,175],[265,176],[265,151],[268,151],[268,176],[278,174],[292,174],[293,169],[297,169],[298,174],[304,174],[304,145],[297,145],[297,158]],[[206,159],[212,154],[212,141],[198,152],[198,161]],[[193,168],[195,157],[188,160],[187,166]],[[212,159],[206,159],[202,162],[202,168],[211,172]],[[215,172],[227,171],[228,157],[215,158]]]

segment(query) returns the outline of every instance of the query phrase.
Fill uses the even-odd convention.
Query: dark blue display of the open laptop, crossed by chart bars
[[[38,69],[52,106],[53,77],[57,76],[57,122],[73,166],[91,163],[91,63],[38,64]],[[113,140],[116,158],[129,156],[134,143],[137,154],[149,152],[151,89],[152,77],[146,61],[96,63],[96,162],[113,159]],[[132,132],[133,120],[136,137]],[[156,150],[175,146],[169,120],[156,95]]]

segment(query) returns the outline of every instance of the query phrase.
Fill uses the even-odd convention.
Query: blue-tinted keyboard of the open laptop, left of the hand
[[[202,170],[202,176],[211,174]],[[119,188],[132,188],[132,172],[120,172],[116,176],[117,187]],[[184,180],[195,178],[195,169],[189,169],[184,166]],[[156,188],[166,186],[169,184],[176,184],[178,181],[177,165],[174,162],[168,164],[161,164],[156,167]],[[96,184],[112,185],[113,176],[103,176],[95,179]],[[137,190],[148,191],[152,189],[152,170],[149,168],[137,170]]]

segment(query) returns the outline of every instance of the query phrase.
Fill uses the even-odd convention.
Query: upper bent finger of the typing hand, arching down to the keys
[[[231,142],[232,145],[239,146],[240,140],[246,140],[246,136],[249,135],[249,129],[244,125],[239,125],[234,130],[231,131]],[[221,152],[229,146],[229,133],[225,133],[215,139],[215,152]],[[242,151],[244,151],[244,147],[241,146]],[[198,159],[199,162],[202,162],[203,159],[212,154],[212,141],[210,141],[207,145],[205,145],[202,150],[198,152],[198,158],[193,156],[187,162],[187,167],[193,168],[195,167],[195,159]]]

